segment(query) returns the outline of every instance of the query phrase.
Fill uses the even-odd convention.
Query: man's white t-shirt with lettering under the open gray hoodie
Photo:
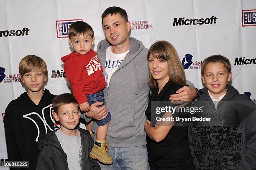
[[[106,50],[106,65],[105,65],[105,80],[107,87],[109,85],[110,79],[115,72],[115,70],[119,67],[119,65],[122,63],[125,55],[129,52],[125,51],[122,54],[115,54],[111,50],[111,46],[107,48]]]

